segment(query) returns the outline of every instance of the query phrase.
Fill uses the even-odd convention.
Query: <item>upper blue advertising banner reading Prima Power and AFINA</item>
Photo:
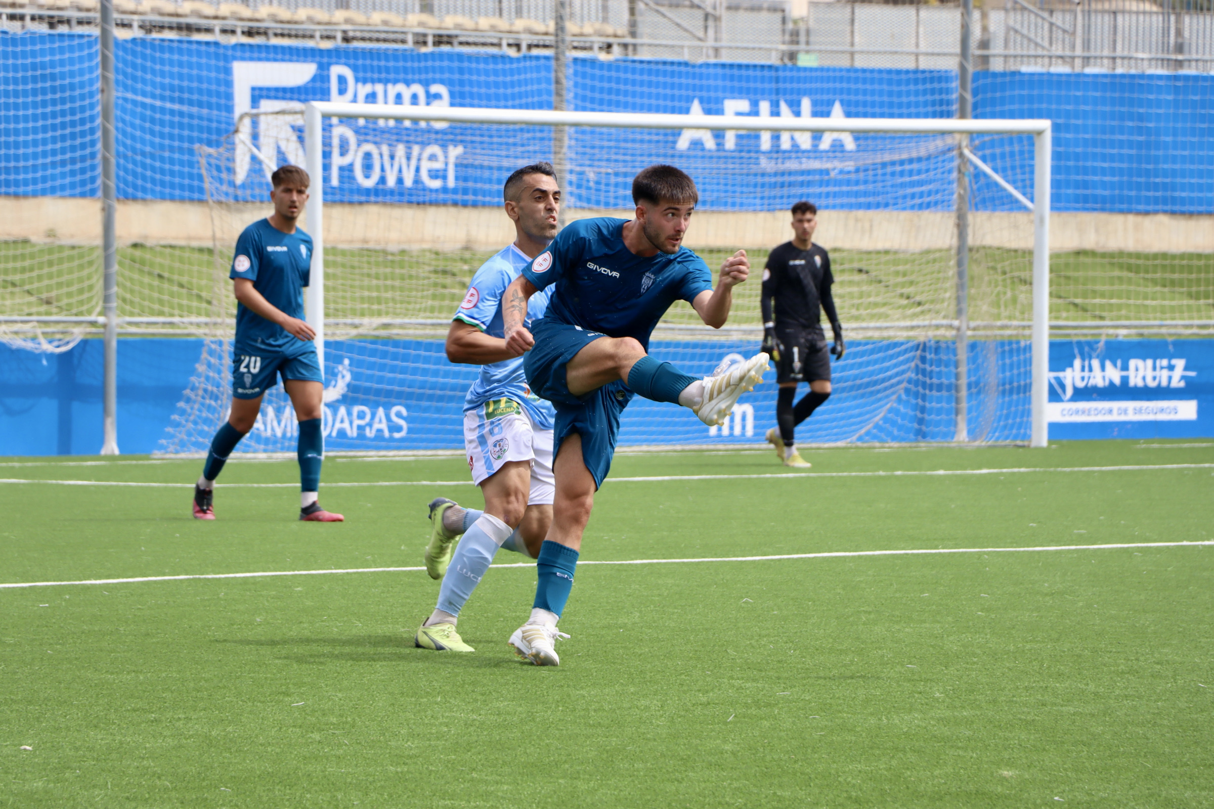
[[[245,112],[305,101],[551,107],[546,56],[136,38],[119,41],[115,58],[118,193],[125,199],[205,199],[197,147],[217,146]],[[97,194],[96,86],[96,38],[0,33],[0,194]],[[572,109],[766,115],[778,126],[782,116],[802,115],[951,118],[957,76],[575,58],[569,87]],[[1214,76],[978,73],[975,114],[1055,121],[1056,211],[1214,212]],[[300,161],[301,125],[283,118],[249,124],[246,139],[277,161]],[[506,127],[418,125],[388,133],[356,119],[330,123],[328,131],[327,192],[335,201],[497,205],[510,169],[550,148],[545,132]],[[696,176],[703,207],[778,207],[809,189],[824,207],[864,210],[881,196],[880,205],[894,200],[902,210],[949,210],[951,142],[901,139],[901,152],[890,152],[892,144],[875,135],[778,130],[580,131],[571,141],[578,170],[567,187],[574,205],[619,206],[635,169],[666,160]],[[975,138],[974,147],[1032,194],[1026,138]],[[886,163],[874,180],[866,167],[878,159]],[[263,198],[266,177],[251,150],[239,147],[232,169],[238,195]],[[817,182],[827,176],[830,183]],[[975,183],[980,209],[1017,209],[985,176]]]

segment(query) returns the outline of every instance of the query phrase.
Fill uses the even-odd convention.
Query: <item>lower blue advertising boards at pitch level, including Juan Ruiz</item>
[[[203,341],[119,341],[118,427],[124,452],[154,452],[175,431]],[[654,341],[654,357],[692,374],[748,355],[753,342]],[[975,380],[1004,369],[999,389],[970,391],[970,434],[1028,439],[1028,368],[1014,341],[970,343]],[[476,369],[449,363],[441,341],[330,341],[323,431],[329,450],[463,446],[464,394]],[[801,441],[943,441],[953,438],[953,343],[855,341],[834,366],[835,392],[798,431]],[[0,346],[0,455],[81,455],[101,448],[101,341],[58,355]],[[709,428],[690,411],[635,399],[623,444],[761,441],[776,425],[773,374],[744,395],[730,422]],[[214,383],[214,381],[212,381]],[[226,400],[226,394],[217,394]],[[1051,439],[1214,437],[1214,340],[1054,341]],[[202,451],[215,425],[194,425]],[[294,414],[282,388],[267,394],[244,449],[294,451]]]

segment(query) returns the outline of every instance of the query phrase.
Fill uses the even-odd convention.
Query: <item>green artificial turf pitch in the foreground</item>
[[[1191,443],[807,454],[812,473],[999,469],[965,475],[623,455],[583,559],[1209,541],[1214,441]],[[1091,466],[1173,468],[1012,471]],[[233,461],[221,483],[296,474]],[[618,479],[680,474],[728,477]],[[466,475],[459,457],[324,471]],[[0,582],[420,565],[425,503],[478,502],[463,483],[322,488],[346,523],[295,522],[291,486],[221,488],[199,523],[188,488],[4,483]],[[472,655],[413,648],[437,594],[421,571],[0,589],[0,807],[1208,807],[1212,574],[1208,546],[583,565],[555,670],[506,648],[529,568],[486,576],[460,619]]]

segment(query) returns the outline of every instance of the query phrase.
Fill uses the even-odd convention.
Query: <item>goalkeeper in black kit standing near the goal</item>
[[[767,431],[767,440],[776,446],[784,466],[809,467],[796,451],[793,433],[810,417],[818,405],[830,398],[830,354],[843,359],[846,347],[843,326],[830,296],[834,277],[830,256],[813,244],[818,209],[812,203],[793,205],[793,240],[785,241],[767,256],[762,270],[764,340],[762,349],[776,361],[776,382],[779,398],[776,422],[779,427]],[[827,351],[822,331],[824,309],[834,332],[834,346]],[[810,383],[810,392],[793,404],[796,386]]]

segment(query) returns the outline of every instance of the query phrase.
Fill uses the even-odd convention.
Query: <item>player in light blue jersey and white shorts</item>
[[[537,163],[515,171],[503,198],[515,223],[515,241],[472,277],[447,332],[449,360],[481,365],[464,400],[464,445],[484,511],[463,508],[446,497],[430,503],[426,571],[443,583],[433,614],[413,642],[436,651],[473,651],[455,629],[464,604],[499,547],[535,558],[552,522],[555,412],[527,386],[522,357],[506,349],[501,317],[506,287],[556,235],[561,190],[552,165]],[[527,323],[544,317],[549,295],[532,297]]]

